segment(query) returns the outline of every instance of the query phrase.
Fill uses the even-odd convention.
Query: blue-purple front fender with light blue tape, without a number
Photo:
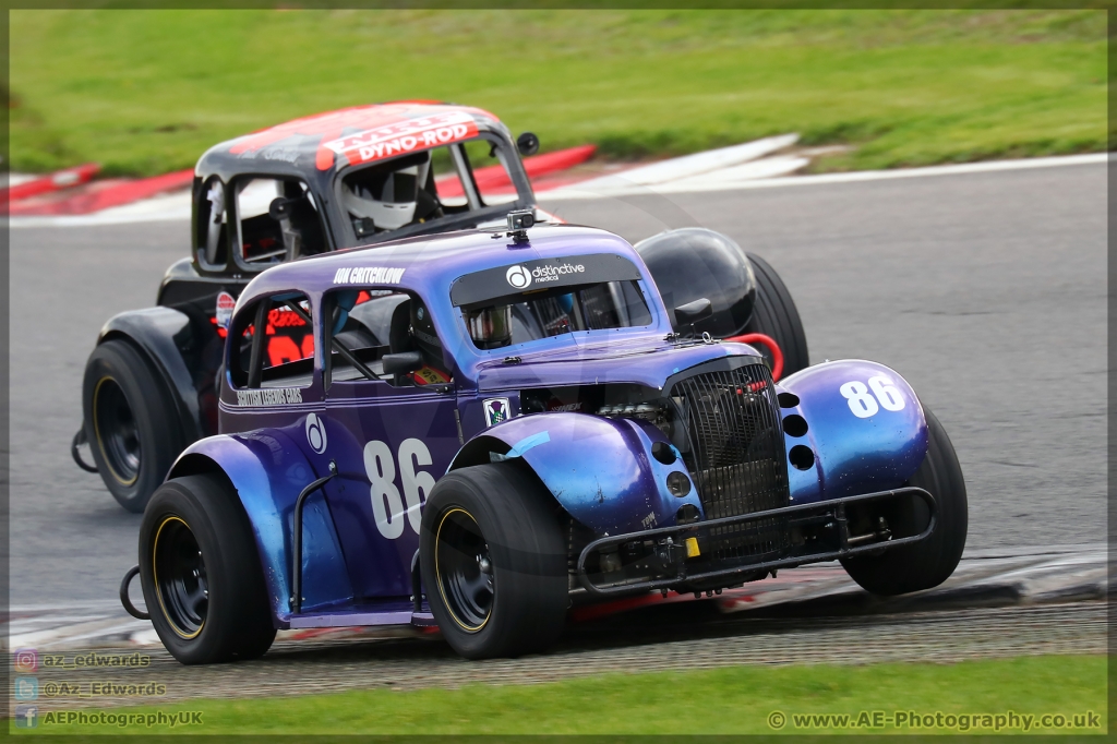
[[[537,413],[487,429],[459,450],[449,469],[521,457],[572,517],[599,535],[615,535],[674,526],[684,504],[701,514],[696,489],[682,498],[667,490],[669,473],[689,475],[674,447],[672,465],[651,456],[657,441],[670,445],[643,421]]]

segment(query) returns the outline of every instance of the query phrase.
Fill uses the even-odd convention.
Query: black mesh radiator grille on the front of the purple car
[[[707,519],[787,506],[780,403],[763,364],[704,372],[675,383],[690,439],[688,466]],[[784,519],[717,527],[703,553],[763,555],[786,545]]]

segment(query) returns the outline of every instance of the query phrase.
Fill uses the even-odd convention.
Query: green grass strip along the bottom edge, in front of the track
[[[168,680],[169,686],[172,684]],[[613,674],[523,687],[475,684],[452,690],[375,689],[287,698],[192,700],[127,709],[154,710],[202,712],[200,726],[174,729],[193,734],[772,734],[767,721],[776,710],[787,717],[780,733],[836,731],[796,727],[795,714],[850,714],[857,719],[861,712],[871,716],[876,710],[885,715],[897,710],[920,715],[942,712],[944,716],[996,716],[1011,710],[1037,717],[1092,712],[1100,714],[1099,728],[1047,728],[1042,733],[1100,734],[1107,726],[1106,658],[1048,656],[954,665],[734,667]],[[164,731],[46,724],[36,729],[55,734]],[[964,733],[908,726],[847,731]],[[1037,731],[1034,724],[1032,731]],[[971,724],[968,733],[985,732]]]

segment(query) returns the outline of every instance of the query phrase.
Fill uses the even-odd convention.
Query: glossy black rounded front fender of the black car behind
[[[671,327],[685,333],[675,308],[705,297],[713,315],[695,324],[718,338],[744,332],[756,299],[756,277],[735,240],[705,228],[668,230],[636,244],[667,305]]]

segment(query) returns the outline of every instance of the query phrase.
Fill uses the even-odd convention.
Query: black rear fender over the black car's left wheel
[[[185,313],[170,307],[147,307],[109,318],[97,336],[98,344],[114,338],[130,341],[151,360],[174,398],[182,441],[194,441],[209,433],[198,402],[194,375],[182,351],[193,345],[193,335]]]

